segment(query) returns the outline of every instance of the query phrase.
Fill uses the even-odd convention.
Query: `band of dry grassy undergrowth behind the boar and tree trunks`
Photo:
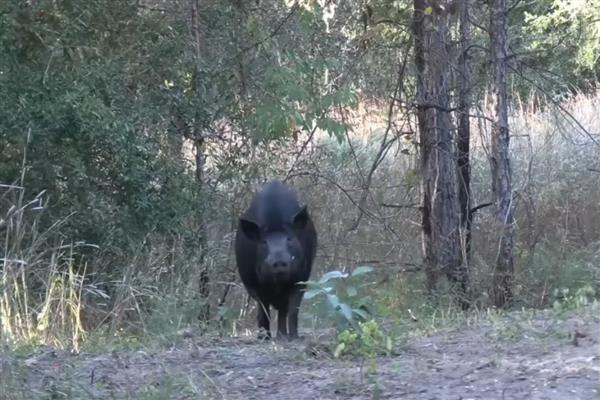
[[[599,96],[581,95],[562,107],[587,131],[597,132],[599,102]],[[512,117],[518,199],[513,308],[583,305],[600,294],[597,144],[561,109],[526,111],[532,108],[515,109]],[[489,168],[486,127],[476,123],[474,127],[473,197],[478,204],[490,196]],[[327,271],[372,267],[360,282],[342,284],[335,293],[350,308],[362,307],[364,313],[356,315],[363,321],[375,318],[390,334],[394,326],[406,326],[406,321],[422,324],[416,330],[414,323],[409,324],[412,331],[426,332],[487,313],[495,251],[489,242],[493,236],[488,211],[480,210],[475,218],[470,265],[475,301],[472,314],[465,316],[454,304],[450,287],[442,287],[436,299],[425,294],[414,144],[400,143],[398,151],[388,153],[374,174],[362,214],[355,207],[361,196],[360,176],[373,162],[379,132],[375,129],[367,136],[361,129],[367,127],[355,128],[351,145],[322,137],[295,160],[292,184],[309,204],[319,229],[312,278],[318,280]],[[251,181],[230,180],[211,193],[212,201],[204,205],[210,217],[203,254],[190,250],[183,232],[165,235],[150,230],[136,247],[120,249],[126,257],[108,266],[117,260],[114,246],[118,243],[78,241],[62,230],[69,215],[42,228],[40,220],[53,207],[52,198],[47,201],[44,193],[30,193],[23,170],[21,177],[0,187],[1,341],[17,347],[43,344],[77,351],[144,346],[156,339],[170,342],[187,329],[207,335],[250,333],[253,304],[239,284],[231,254],[234,222],[255,187],[251,182],[285,176],[290,146],[271,144],[257,150],[250,160],[256,172]],[[191,231],[191,211],[188,217]],[[210,274],[212,313],[209,320],[201,321],[198,273],[205,267]],[[302,326],[309,331],[335,325],[342,332],[349,327],[344,318],[336,317],[344,312],[339,304],[333,304],[338,307],[332,311],[332,304],[323,306],[318,296],[303,304]]]

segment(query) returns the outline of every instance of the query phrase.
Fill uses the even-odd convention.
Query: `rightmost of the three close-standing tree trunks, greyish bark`
[[[513,279],[513,204],[509,160],[508,88],[506,55],[508,49],[506,0],[492,0],[490,12],[490,53],[492,56],[493,102],[492,145],[490,164],[495,219],[500,232],[498,253],[492,282],[492,299],[504,307],[512,299]]]

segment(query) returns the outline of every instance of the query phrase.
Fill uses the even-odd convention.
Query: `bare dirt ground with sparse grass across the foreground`
[[[1,399],[600,399],[600,307],[410,339],[378,359],[331,356],[325,339],[259,343],[186,332],[153,351],[38,351],[1,361]]]

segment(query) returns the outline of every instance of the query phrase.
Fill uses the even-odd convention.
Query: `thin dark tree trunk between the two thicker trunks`
[[[469,45],[471,42],[471,24],[469,22],[469,0],[459,2],[460,15],[460,59],[459,74],[459,104],[458,104],[458,201],[460,204],[460,222],[464,238],[463,265],[458,279],[463,292],[468,291],[469,264],[471,261],[471,226],[473,215],[471,213],[471,163],[470,142],[471,128],[469,114],[471,112],[471,63]],[[468,299],[465,299],[468,300]],[[468,302],[463,303],[463,308]]]

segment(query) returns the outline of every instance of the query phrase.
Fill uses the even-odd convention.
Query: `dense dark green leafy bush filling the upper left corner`
[[[19,4],[0,13],[0,182],[25,160],[29,190],[54,205],[46,226],[72,215],[67,237],[115,255],[150,231],[182,230],[197,192],[156,130],[166,110],[154,101],[156,60],[178,47],[172,29],[133,2]]]

